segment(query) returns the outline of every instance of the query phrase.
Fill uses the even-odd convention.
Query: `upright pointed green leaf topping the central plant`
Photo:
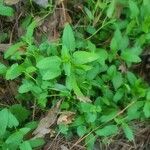
[[[65,25],[62,37],[62,45],[66,46],[69,51],[75,50],[75,38],[71,26],[67,23]]]

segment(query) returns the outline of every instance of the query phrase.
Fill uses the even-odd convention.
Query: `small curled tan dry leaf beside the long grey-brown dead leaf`
[[[61,112],[61,115],[57,120],[57,124],[70,124],[74,120],[74,117],[75,117],[74,112],[71,111]]]

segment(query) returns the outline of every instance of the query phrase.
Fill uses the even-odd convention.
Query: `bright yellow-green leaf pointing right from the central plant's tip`
[[[73,53],[73,58],[76,64],[86,64],[97,60],[99,55],[93,52],[76,51]]]

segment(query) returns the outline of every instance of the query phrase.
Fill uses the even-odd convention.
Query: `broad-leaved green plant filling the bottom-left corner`
[[[37,123],[31,122],[21,127],[30,112],[19,104],[0,111],[0,148],[2,150],[32,149],[44,144],[42,139],[29,139],[29,132],[36,128]]]

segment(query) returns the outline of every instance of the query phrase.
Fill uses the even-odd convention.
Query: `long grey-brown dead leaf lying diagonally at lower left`
[[[55,107],[49,110],[46,117],[42,118],[38,124],[38,127],[34,130],[34,138],[44,137],[46,134],[50,133],[50,127],[55,123],[57,115],[59,113],[61,101],[59,101]]]

